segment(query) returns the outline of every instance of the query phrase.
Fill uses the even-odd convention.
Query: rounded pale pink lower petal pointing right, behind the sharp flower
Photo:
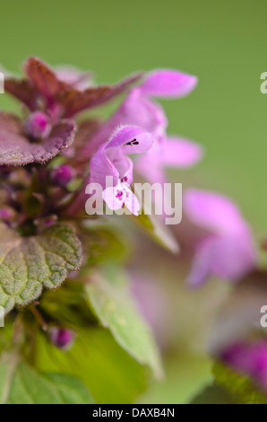
[[[202,146],[178,137],[168,137],[162,161],[168,167],[191,167],[202,159]]]

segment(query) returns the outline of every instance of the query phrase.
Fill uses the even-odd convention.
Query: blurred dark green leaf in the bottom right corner
[[[228,366],[216,364],[215,381],[233,398],[235,404],[267,404],[267,395],[245,375],[236,374]]]

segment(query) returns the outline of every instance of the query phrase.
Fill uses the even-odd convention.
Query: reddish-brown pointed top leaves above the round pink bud
[[[119,84],[89,87],[82,84],[84,74],[77,75],[73,83],[72,75],[62,76],[53,71],[38,57],[30,57],[24,66],[26,79],[6,78],[5,91],[24,102],[30,110],[39,110],[39,99],[45,101],[46,109],[61,117],[71,118],[78,112],[98,106],[124,92],[131,84],[140,80],[142,74],[132,75]],[[59,76],[59,77],[58,77]],[[70,77],[72,81],[70,82]],[[83,80],[84,82],[84,80]]]

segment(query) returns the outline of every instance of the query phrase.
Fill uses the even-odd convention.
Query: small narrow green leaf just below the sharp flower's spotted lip
[[[155,215],[141,214],[138,216],[131,215],[131,217],[134,223],[139,225],[142,231],[147,233],[160,246],[172,253],[177,253],[180,250],[173,233]]]

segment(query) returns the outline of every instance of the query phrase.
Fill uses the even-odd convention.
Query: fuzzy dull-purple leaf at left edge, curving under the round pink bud
[[[72,145],[75,130],[72,120],[60,120],[49,135],[37,143],[27,135],[21,119],[0,112],[0,165],[46,163]]]

